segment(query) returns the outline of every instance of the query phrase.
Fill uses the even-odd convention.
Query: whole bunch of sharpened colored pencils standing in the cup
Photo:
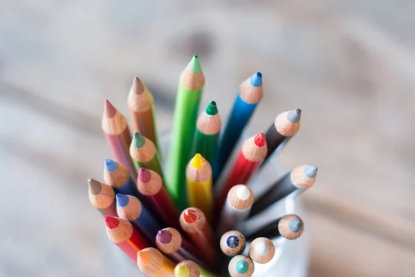
[[[263,94],[257,72],[241,83],[220,136],[215,101],[198,116],[204,84],[195,55],[179,78],[165,167],[154,99],[145,84],[134,78],[129,91],[133,134],[127,118],[108,100],[104,103],[102,129],[113,160],[104,161],[104,182],[89,179],[89,199],[104,215],[109,240],[149,276],[252,276],[255,263],[273,259],[273,240],[295,240],[304,230],[297,215],[275,218],[251,233],[238,227],[313,186],[317,168],[307,165],[273,181],[257,199],[248,185],[297,134],[301,110],[284,111],[263,133],[242,138]],[[219,179],[222,184],[215,184]]]

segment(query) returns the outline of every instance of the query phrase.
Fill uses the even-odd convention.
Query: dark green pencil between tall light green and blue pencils
[[[211,165],[221,131],[221,116],[216,102],[212,101],[196,121],[196,153],[200,153]]]

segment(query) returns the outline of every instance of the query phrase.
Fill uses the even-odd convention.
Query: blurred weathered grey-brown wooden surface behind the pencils
[[[138,76],[168,127],[195,53],[201,105],[216,100],[224,119],[239,83],[264,74],[251,134],[302,109],[280,161],[319,168],[302,196],[309,276],[415,276],[414,1],[0,5],[0,276],[105,276],[86,184],[110,157],[104,99],[127,115]]]

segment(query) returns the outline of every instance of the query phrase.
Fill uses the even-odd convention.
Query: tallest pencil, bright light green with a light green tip
[[[180,76],[169,150],[166,187],[179,210],[186,207],[185,168],[193,150],[196,117],[205,77],[194,55]]]

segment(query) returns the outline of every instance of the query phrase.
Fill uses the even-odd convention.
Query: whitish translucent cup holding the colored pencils
[[[163,159],[167,157],[169,148],[170,132],[160,132],[159,141]],[[243,139],[241,140],[243,141]],[[275,159],[271,159],[261,171],[252,177],[248,183],[255,196],[264,192],[266,184],[272,184],[276,179],[284,175],[284,170],[279,166]],[[290,195],[286,199],[278,202],[268,210],[264,211],[264,216],[252,217],[241,224],[237,229],[242,233],[252,232],[260,226],[275,220],[287,214],[296,214],[304,219],[304,210],[302,203],[295,195]],[[116,245],[111,243],[106,234],[103,234],[103,260],[107,276],[109,277],[129,277],[129,276],[146,276],[129,257],[123,253]],[[261,265],[255,262],[254,277],[305,277],[308,272],[308,232],[304,233],[297,240],[286,240],[279,238],[273,240],[275,244],[275,256],[270,262]],[[248,255],[249,243],[243,254]]]

